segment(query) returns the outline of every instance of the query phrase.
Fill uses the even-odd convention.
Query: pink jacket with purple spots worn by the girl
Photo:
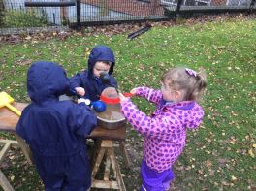
[[[136,94],[155,103],[151,116],[145,115],[126,99],[121,111],[127,121],[144,136],[144,160],[150,169],[163,172],[171,169],[186,143],[186,129],[197,128],[204,111],[194,101],[161,104],[160,90],[139,87]]]

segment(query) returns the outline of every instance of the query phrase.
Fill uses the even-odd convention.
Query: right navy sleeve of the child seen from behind
[[[88,106],[80,103],[70,111],[69,124],[74,128],[76,134],[84,137],[96,127],[97,116]]]

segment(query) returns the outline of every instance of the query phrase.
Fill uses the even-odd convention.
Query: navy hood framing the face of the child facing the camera
[[[114,55],[112,49],[106,46],[97,46],[91,50],[88,59],[88,73],[92,76],[92,70],[97,61],[109,61],[112,62],[112,66],[109,71],[109,75],[112,75],[113,67],[115,64]]]

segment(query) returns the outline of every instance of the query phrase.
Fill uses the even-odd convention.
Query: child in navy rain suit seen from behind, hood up
[[[85,104],[58,101],[69,89],[65,71],[52,62],[35,62],[27,73],[32,100],[16,125],[16,133],[30,145],[33,160],[48,191],[86,191],[91,172],[85,136],[97,118]]]

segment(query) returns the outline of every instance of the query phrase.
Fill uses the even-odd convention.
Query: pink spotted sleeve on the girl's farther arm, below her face
[[[148,87],[138,87],[136,90],[136,95],[144,97],[149,102],[155,104],[157,104],[162,98],[162,93],[160,90],[155,90]]]

